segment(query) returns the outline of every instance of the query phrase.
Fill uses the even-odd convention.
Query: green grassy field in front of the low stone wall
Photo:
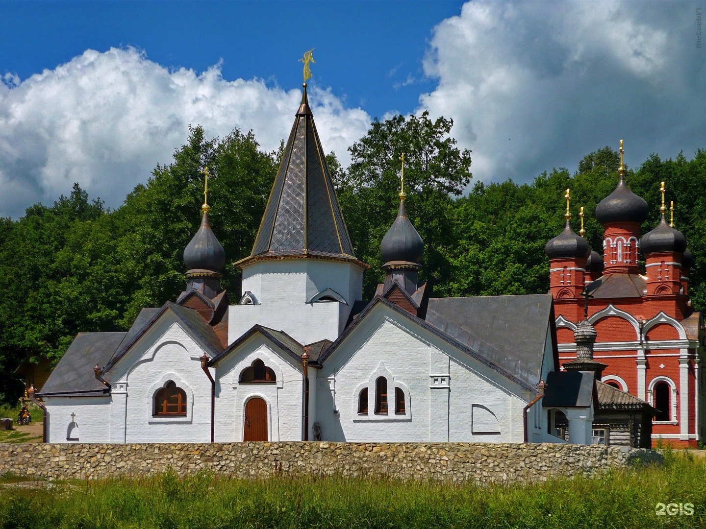
[[[660,503],[677,506],[661,509]],[[685,504],[693,504],[693,515]],[[661,510],[664,516],[657,515]],[[492,487],[344,478],[248,481],[205,473],[51,484],[0,479],[3,529],[436,527],[706,527],[706,462],[668,452],[662,467]]]

